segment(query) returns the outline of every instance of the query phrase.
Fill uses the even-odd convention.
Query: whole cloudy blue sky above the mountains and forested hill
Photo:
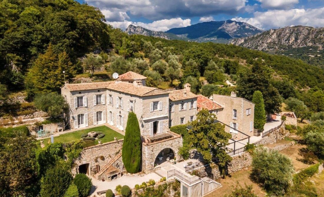
[[[324,0],[77,0],[98,7],[107,23],[167,31],[206,21],[236,20],[268,30],[324,26]]]

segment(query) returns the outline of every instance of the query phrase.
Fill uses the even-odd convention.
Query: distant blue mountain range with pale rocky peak
[[[261,33],[262,30],[248,23],[227,20],[197,23],[187,27],[172,28],[166,32],[152,31],[140,26],[129,25],[125,32],[161,37],[168,40],[227,43],[233,38],[251,36]]]

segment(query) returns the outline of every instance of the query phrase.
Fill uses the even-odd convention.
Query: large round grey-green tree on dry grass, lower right
[[[274,195],[283,195],[292,182],[294,167],[291,160],[278,151],[259,148],[252,159],[252,176],[264,189]]]

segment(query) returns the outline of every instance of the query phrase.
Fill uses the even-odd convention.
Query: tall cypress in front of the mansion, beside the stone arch
[[[141,131],[136,114],[128,114],[127,126],[125,129],[124,142],[122,144],[122,162],[130,173],[136,173],[140,169],[142,156]]]

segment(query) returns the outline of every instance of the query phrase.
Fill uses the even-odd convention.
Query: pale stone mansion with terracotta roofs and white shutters
[[[115,81],[64,84],[61,94],[70,106],[69,114],[66,114],[70,128],[108,123],[124,130],[128,113],[134,112],[141,130],[144,172],[154,169],[154,161],[164,149],[172,149],[175,157],[180,158],[178,148],[182,146],[182,137],[170,132],[169,127],[195,120],[202,108],[243,133],[250,132],[250,125],[253,128],[253,122],[250,123],[254,116],[253,103],[218,95],[211,100],[191,93],[190,84],[185,84],[181,90],[165,91],[145,86],[145,79],[145,76],[128,72]],[[235,120],[233,110],[237,112]],[[249,116],[241,115],[245,110]],[[228,132],[236,134],[235,129]]]

